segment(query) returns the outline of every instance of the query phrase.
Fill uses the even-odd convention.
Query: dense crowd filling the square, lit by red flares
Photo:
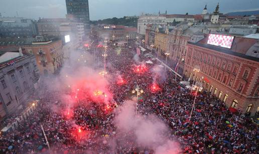
[[[189,120],[194,95],[180,79],[172,80],[172,72],[163,74],[165,77],[156,74],[156,65],[145,65],[143,72],[136,72],[136,66],[149,59],[142,55],[134,58],[135,52],[108,50],[107,71],[114,79],[107,87],[113,94],[108,104],[89,96],[68,110],[67,103],[59,99],[60,92],[41,87],[46,90],[29,119],[0,136],[0,153],[154,153],[154,149],[138,145],[132,132],[122,134],[114,124],[116,108],[132,99],[137,85],[145,91],[139,114],[154,114],[164,121],[171,137],[181,143],[182,153],[257,153],[258,127],[249,117],[230,112],[224,102],[203,91],[197,94]],[[124,81],[121,85],[118,72]],[[155,91],[153,84],[158,85]]]

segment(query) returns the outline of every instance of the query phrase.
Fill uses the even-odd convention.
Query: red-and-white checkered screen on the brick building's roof
[[[233,40],[233,36],[210,34],[207,44],[230,49]]]

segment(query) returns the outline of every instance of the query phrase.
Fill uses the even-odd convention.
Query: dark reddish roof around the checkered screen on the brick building
[[[223,47],[219,47],[219,46],[213,46],[213,45],[209,45],[207,44],[208,42],[208,36],[209,35],[205,35],[205,38],[202,39],[201,41],[197,42],[197,43],[191,43],[188,42],[189,44],[192,45],[196,45],[199,47],[203,47],[203,48],[208,48],[211,50],[215,50],[218,52],[223,52],[229,55],[234,55],[237,57],[241,57],[241,58],[245,58],[245,59],[249,59],[252,61],[259,61],[259,58],[257,58],[256,56],[248,56],[247,52],[249,51],[249,49],[254,46],[257,43],[257,39],[249,39],[249,38],[244,38],[244,37],[235,37],[232,43],[232,48],[228,49],[228,48],[223,48]]]

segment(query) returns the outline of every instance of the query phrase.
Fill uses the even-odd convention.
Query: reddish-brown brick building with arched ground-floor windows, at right
[[[204,77],[206,91],[228,107],[253,115],[259,106],[259,41],[233,36],[229,49],[208,44],[208,37],[188,42],[184,74],[192,79],[193,69],[199,67],[196,77]]]

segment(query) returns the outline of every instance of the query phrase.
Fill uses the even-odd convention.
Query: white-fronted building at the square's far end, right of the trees
[[[138,19],[138,31],[140,35],[146,34],[147,24],[158,24],[165,25],[167,24],[166,17],[162,16],[141,16]]]

